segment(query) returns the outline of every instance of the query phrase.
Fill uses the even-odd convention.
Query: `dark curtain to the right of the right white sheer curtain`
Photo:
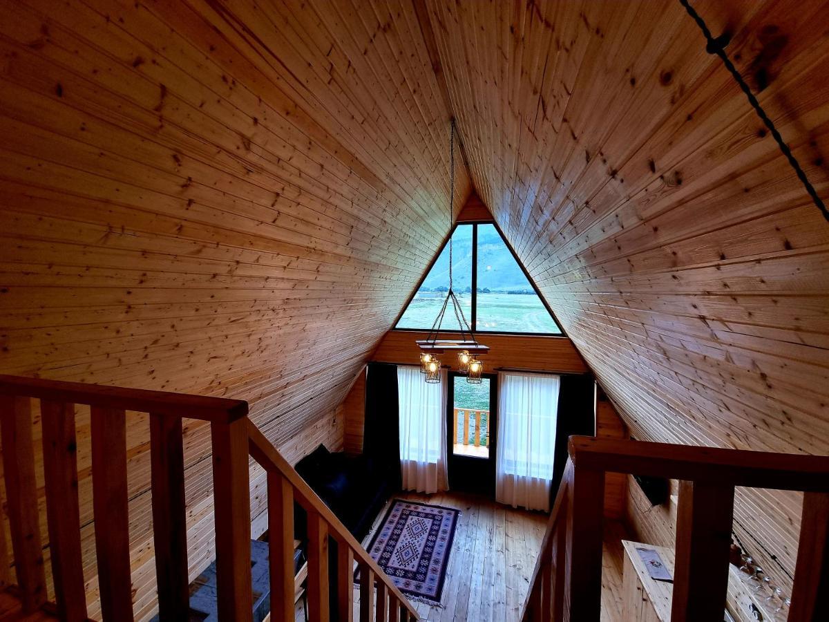
[[[559,415],[555,425],[555,464],[550,488],[550,508],[559,492],[567,465],[567,440],[572,435],[596,435],[594,386],[591,374],[564,375],[559,389]]]

